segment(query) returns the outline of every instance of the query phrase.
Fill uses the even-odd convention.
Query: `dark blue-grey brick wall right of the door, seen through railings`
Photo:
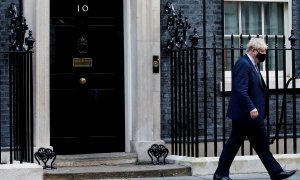
[[[164,8],[165,8],[165,4],[168,0],[161,0],[161,125],[162,125],[162,139],[168,141],[171,137],[171,102],[170,102],[170,62],[169,62],[169,57],[168,57],[168,53],[167,53],[167,40],[169,38],[169,34],[167,32],[167,15],[164,13]],[[212,40],[213,40],[213,34],[216,34],[217,37],[217,46],[220,46],[221,43],[221,37],[222,37],[222,12],[221,12],[221,1],[219,0],[210,0],[210,1],[206,1],[206,19],[203,21],[203,1],[202,0],[172,0],[170,1],[173,3],[175,10],[179,10],[180,7],[182,7],[183,11],[184,11],[184,16],[187,16],[189,18],[189,22],[191,23],[191,30],[192,31],[193,28],[197,28],[198,29],[198,35],[202,36],[202,39],[200,39],[199,41],[199,46],[201,47],[212,47]],[[293,13],[293,27],[295,29],[296,32],[296,37],[300,37],[300,3],[296,3],[296,1],[294,1],[293,4],[293,11],[296,13]],[[203,29],[203,22],[206,23],[206,31],[204,31]],[[297,29],[297,30],[296,30]],[[204,37],[204,33],[205,33],[205,40],[206,43],[203,43],[203,37]],[[288,33],[289,34],[289,33]],[[298,38],[300,39],[300,38]],[[289,43],[289,42],[287,42]],[[300,41],[298,40],[296,42],[298,44],[298,47],[300,47]],[[213,122],[214,122],[214,112],[213,112],[213,60],[212,60],[212,54],[208,53],[206,56],[206,63],[207,63],[207,78],[208,78],[208,83],[207,83],[207,128],[208,128],[208,139],[212,139],[213,138]],[[297,58],[296,58],[297,59]],[[298,58],[299,59],[299,58]],[[203,60],[202,60],[203,61]],[[217,71],[218,71],[218,77],[217,77],[217,82],[221,82],[222,78],[220,77],[221,75],[221,62],[218,61],[217,63]],[[200,69],[202,68],[203,62],[200,62]],[[297,66],[297,72],[300,74],[300,69]],[[203,71],[202,71],[203,72]],[[199,72],[199,77],[200,79],[203,77],[203,74],[201,74],[202,72]],[[203,83],[199,83],[199,89],[200,89],[200,95],[199,97],[203,96],[203,91],[201,91],[203,89]],[[202,94],[201,94],[202,93]],[[274,105],[276,104],[276,98],[274,98],[274,96],[276,95],[271,95],[270,96],[270,104]],[[281,98],[282,98],[282,94],[278,95],[279,100],[278,100],[278,111],[281,112]],[[299,98],[299,95],[298,95]],[[202,100],[202,99],[201,99]],[[229,96],[228,94],[225,97],[225,112],[227,110],[227,103],[229,100]],[[291,115],[292,112],[292,108],[289,107],[292,105],[291,103],[291,99],[290,96],[288,97],[287,100],[289,103],[287,104],[287,110],[289,112],[287,112],[287,114]],[[297,99],[298,101],[298,99]],[[199,109],[204,109],[203,108],[203,103],[200,102],[199,103]],[[217,121],[218,121],[218,135],[222,135],[222,96],[220,94],[220,92],[217,93]],[[297,107],[299,110],[297,111],[297,117],[299,117],[299,111],[300,111],[300,107]],[[202,110],[203,111],[203,110]],[[205,111],[205,110],[204,110]],[[276,114],[273,113],[277,111],[275,109],[274,106],[270,107],[270,119],[271,120],[275,120],[275,116]],[[199,115],[199,130],[200,130],[200,135],[203,135],[203,130],[204,130],[204,122],[203,122],[203,114],[200,112]],[[292,126],[291,126],[291,118],[290,116],[288,116],[288,129],[291,130]],[[230,132],[230,121],[228,120],[228,118],[226,118],[226,135],[229,135]],[[273,124],[274,126],[274,124]],[[274,127],[271,127],[274,129]],[[274,132],[274,131],[272,131]]]

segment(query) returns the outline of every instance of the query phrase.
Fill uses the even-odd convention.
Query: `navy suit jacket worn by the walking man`
[[[266,84],[245,54],[235,63],[232,70],[231,96],[227,116],[234,120],[251,124],[264,122],[266,110]],[[250,111],[258,110],[257,119],[251,119]]]

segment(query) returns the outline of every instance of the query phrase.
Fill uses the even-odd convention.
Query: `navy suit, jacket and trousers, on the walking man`
[[[249,57],[240,57],[232,70],[232,90],[227,110],[227,116],[232,119],[232,131],[221,153],[216,174],[229,176],[231,163],[246,137],[270,176],[283,170],[269,151],[264,124],[266,91],[266,85]],[[250,111],[254,108],[259,116],[251,119]]]

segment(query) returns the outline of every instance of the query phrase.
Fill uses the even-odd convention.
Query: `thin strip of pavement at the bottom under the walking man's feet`
[[[266,180],[270,179],[268,173],[248,173],[248,174],[231,174],[233,180]],[[182,177],[161,177],[161,178],[129,178],[129,179],[106,179],[106,180],[212,180],[212,175],[205,176],[182,176]],[[297,171],[289,180],[299,180],[300,171]],[[103,179],[102,179],[103,180]]]

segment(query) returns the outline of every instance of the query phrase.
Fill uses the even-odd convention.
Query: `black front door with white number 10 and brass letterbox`
[[[57,154],[125,151],[122,0],[50,0],[50,136]]]

